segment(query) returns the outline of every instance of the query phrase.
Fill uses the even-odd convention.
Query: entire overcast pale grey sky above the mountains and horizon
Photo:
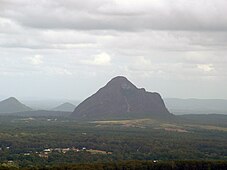
[[[117,75],[227,99],[227,1],[0,0],[0,97],[84,99]]]

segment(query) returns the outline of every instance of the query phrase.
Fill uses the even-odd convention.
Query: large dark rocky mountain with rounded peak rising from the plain
[[[79,104],[73,117],[83,119],[105,118],[165,118],[172,116],[158,93],[137,88],[127,78],[118,76]]]

